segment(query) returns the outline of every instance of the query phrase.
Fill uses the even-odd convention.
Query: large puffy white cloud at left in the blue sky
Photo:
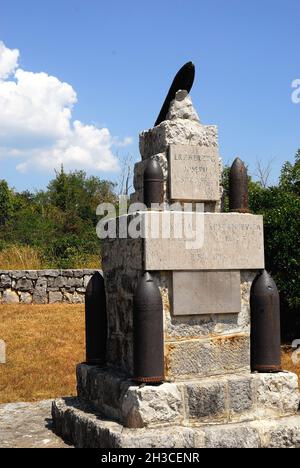
[[[113,146],[127,146],[107,128],[72,120],[76,92],[47,73],[17,68],[18,50],[0,42],[0,158],[18,158],[17,170],[117,171]],[[9,78],[11,76],[11,78]],[[2,79],[1,79],[2,78]]]

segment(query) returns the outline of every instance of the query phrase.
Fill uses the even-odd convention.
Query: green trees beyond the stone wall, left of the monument
[[[0,250],[28,245],[41,253],[48,267],[89,266],[91,254],[100,256],[96,208],[116,203],[114,184],[83,171],[65,173],[63,167],[37,193],[14,192],[0,182]]]

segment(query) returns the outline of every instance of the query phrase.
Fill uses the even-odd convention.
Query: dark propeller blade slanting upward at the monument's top
[[[192,89],[195,79],[195,65],[192,62],[187,62],[175,75],[173,83],[169,89],[165,102],[161,108],[161,111],[156,119],[154,126],[156,127],[161,122],[166,120],[169,112],[170,104],[175,99],[176,93],[179,90],[185,90],[188,93]]]

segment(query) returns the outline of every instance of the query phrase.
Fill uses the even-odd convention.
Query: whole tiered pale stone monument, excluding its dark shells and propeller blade
[[[265,266],[263,219],[221,212],[217,127],[200,122],[185,90],[174,97],[165,120],[140,134],[131,196],[143,201],[143,173],[154,159],[165,205],[128,214],[125,224],[139,216],[147,230],[159,219],[173,233],[180,210],[166,204],[188,202],[183,219],[199,219],[200,243],[187,248],[187,236],[161,230],[102,242],[106,365],[78,365],[78,397],[53,403],[56,432],[78,447],[299,447],[297,376],[250,368],[250,288]],[[133,297],[145,271],[162,297],[164,381],[156,385],[134,375]]]

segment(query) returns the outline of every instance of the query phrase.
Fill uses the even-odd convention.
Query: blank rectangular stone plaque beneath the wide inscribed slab
[[[241,311],[239,271],[173,273],[173,314],[238,314]]]

